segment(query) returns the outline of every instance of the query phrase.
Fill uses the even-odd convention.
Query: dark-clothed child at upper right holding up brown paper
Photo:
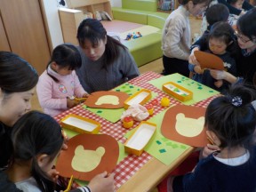
[[[213,24],[208,36],[204,36],[204,41],[208,42],[208,49],[202,50],[210,52],[223,60],[225,70],[236,76],[236,61],[231,57],[231,53],[236,51],[234,29],[227,22],[217,22]],[[201,41],[203,41],[201,39]],[[202,70],[199,65],[189,64],[189,70],[194,72],[193,79],[205,84],[212,89],[225,92],[228,89],[228,82],[216,81],[208,69]]]

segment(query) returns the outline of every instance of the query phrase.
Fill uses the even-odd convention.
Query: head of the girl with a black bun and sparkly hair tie
[[[251,149],[256,127],[256,111],[252,107],[252,100],[255,100],[253,90],[236,85],[228,95],[220,96],[209,104],[205,113],[205,126],[217,136],[219,143],[216,144],[220,148]]]

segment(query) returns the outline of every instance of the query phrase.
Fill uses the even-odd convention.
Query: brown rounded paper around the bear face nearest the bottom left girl
[[[84,147],[84,151],[81,152],[83,153],[82,155],[84,158],[78,159],[79,164],[76,164],[77,166],[83,165],[83,163],[86,164],[86,160],[89,160],[87,164],[91,164],[90,157],[86,157],[86,155],[88,155],[88,151],[89,153],[92,153],[95,152],[97,148],[104,148],[105,153],[101,156],[100,164],[89,172],[80,172],[74,169],[74,167],[72,167],[72,160],[74,160],[73,158],[75,156],[77,158],[77,153],[75,155],[77,146]],[[60,156],[57,160],[56,170],[60,172],[60,176],[62,177],[69,178],[70,175],[73,175],[74,178],[78,180],[92,180],[92,178],[100,172],[113,172],[116,167],[118,156],[118,143],[111,136],[106,134],[79,134],[68,140],[67,150],[61,150]],[[93,161],[93,163],[95,162]]]

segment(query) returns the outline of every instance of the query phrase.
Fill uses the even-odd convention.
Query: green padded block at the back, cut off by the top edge
[[[157,0],[122,0],[124,9],[156,12]]]

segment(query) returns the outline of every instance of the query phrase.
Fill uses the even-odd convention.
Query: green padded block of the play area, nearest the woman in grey
[[[148,36],[126,41],[124,45],[127,46],[137,66],[140,67],[163,56],[161,38],[160,33],[152,33]]]

